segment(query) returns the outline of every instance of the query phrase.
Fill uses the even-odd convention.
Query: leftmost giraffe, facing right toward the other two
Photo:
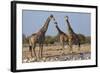
[[[34,53],[36,60],[37,60],[36,51],[35,51],[36,43],[39,44],[38,59],[41,59],[42,51],[43,51],[43,42],[45,40],[45,33],[48,29],[49,22],[51,21],[51,19],[55,20],[52,14],[47,18],[43,27],[37,33],[32,34],[31,37],[29,38],[29,51],[31,52],[31,57],[33,57],[33,53]]]

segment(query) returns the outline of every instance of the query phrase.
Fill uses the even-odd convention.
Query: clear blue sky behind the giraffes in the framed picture
[[[69,22],[75,33],[81,33],[85,36],[91,35],[91,14],[79,13],[79,12],[52,12],[52,11],[35,11],[35,10],[23,10],[22,11],[22,33],[26,36],[30,36],[33,33],[39,31],[44,25],[47,18],[53,14],[59,28],[65,32],[67,31],[67,22],[64,17],[69,16]],[[46,35],[55,36],[58,34],[55,28],[54,21],[49,23]]]

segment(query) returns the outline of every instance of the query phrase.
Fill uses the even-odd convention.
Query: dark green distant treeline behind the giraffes
[[[79,40],[81,44],[90,44],[91,43],[91,37],[90,36],[85,36],[83,34],[78,34]],[[26,37],[25,34],[22,35],[23,38],[23,44],[29,44],[29,37]],[[60,43],[59,42],[59,35],[56,36],[46,36],[44,44],[55,44],[55,43]],[[67,44],[67,41],[65,42]]]

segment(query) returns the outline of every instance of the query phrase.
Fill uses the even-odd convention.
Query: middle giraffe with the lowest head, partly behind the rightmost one
[[[59,40],[60,40],[60,43],[62,45],[62,50],[63,50],[63,54],[64,54],[64,46],[65,46],[65,42],[68,41],[68,35],[66,33],[64,33],[57,25],[57,22],[55,23],[56,24],[56,29],[58,30],[58,34],[59,34]]]

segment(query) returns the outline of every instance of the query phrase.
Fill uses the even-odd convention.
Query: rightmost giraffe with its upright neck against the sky
[[[68,43],[69,43],[69,47],[70,47],[70,51],[72,51],[72,45],[74,43],[78,44],[78,50],[80,50],[80,40],[78,35],[74,32],[74,30],[71,27],[71,24],[69,22],[69,17],[66,16],[65,20],[67,22],[67,26],[68,26]]]

